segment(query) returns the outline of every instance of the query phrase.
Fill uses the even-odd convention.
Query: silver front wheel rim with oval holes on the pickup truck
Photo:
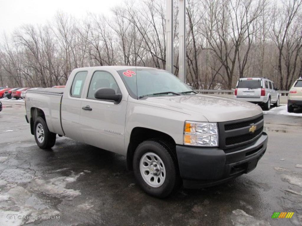
[[[160,187],[166,178],[165,165],[161,158],[153,152],[148,152],[140,159],[140,174],[151,187]]]

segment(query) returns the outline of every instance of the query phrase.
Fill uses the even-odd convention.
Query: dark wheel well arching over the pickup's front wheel
[[[133,155],[137,146],[145,140],[156,139],[166,141],[171,144],[174,148],[171,148],[172,155],[176,158],[175,141],[174,139],[163,132],[152,130],[144,127],[135,127],[131,131],[130,142],[127,150],[127,169],[133,170]]]

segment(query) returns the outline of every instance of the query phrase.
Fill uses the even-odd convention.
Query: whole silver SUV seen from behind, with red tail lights
[[[273,81],[266,78],[241,78],[235,89],[235,98],[263,106],[265,110],[280,105],[278,88]]]

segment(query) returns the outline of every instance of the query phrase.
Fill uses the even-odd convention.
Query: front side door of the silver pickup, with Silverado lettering
[[[95,71],[92,75],[87,96],[81,106],[81,133],[84,142],[108,151],[124,152],[124,133],[127,101],[119,104],[95,98],[99,88],[120,89],[108,71]]]

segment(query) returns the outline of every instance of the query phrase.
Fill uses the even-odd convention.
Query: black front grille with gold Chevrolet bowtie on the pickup
[[[263,114],[252,118],[218,123],[220,148],[235,148],[257,140],[262,134],[263,125]],[[254,132],[249,131],[252,126],[256,127]]]

